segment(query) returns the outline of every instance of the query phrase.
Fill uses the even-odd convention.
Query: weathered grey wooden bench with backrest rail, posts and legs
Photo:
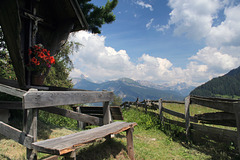
[[[111,111],[109,103],[113,100],[113,92],[82,90],[38,91],[35,88],[25,91],[4,84],[0,84],[0,91],[22,99],[22,101],[18,103],[7,103],[7,105],[10,104],[12,108],[21,109],[23,111],[22,131],[0,122],[0,134],[3,134],[25,146],[27,150],[27,159],[36,160],[38,151],[54,155],[64,155],[65,157],[70,155],[70,158],[73,157],[76,159],[75,149],[77,147],[92,142],[98,138],[109,137],[111,134],[117,134],[122,131],[127,132],[128,154],[130,159],[134,159],[132,132],[133,127],[137,124],[127,122],[110,123]],[[103,103],[102,118],[56,107],[99,102]],[[5,102],[3,104],[5,104]],[[6,107],[6,105],[4,105],[4,107]],[[37,142],[39,110],[72,118],[84,123],[105,125],[68,136]],[[52,158],[50,157],[50,159]],[[50,159],[48,158],[48,160]]]

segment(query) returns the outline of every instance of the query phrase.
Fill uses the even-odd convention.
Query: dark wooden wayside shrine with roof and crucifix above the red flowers
[[[31,46],[41,43],[55,55],[71,32],[88,29],[77,0],[1,0],[0,25],[21,88],[31,85]]]

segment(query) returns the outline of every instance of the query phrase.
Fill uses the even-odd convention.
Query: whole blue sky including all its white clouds
[[[196,86],[240,65],[239,0],[119,0],[113,12],[102,34],[71,36],[83,44],[71,77]]]

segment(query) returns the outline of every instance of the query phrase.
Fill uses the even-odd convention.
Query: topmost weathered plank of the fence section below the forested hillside
[[[219,98],[204,98],[191,96],[191,104],[198,104],[209,108],[222,110],[225,112],[234,113],[234,103],[238,103],[238,100],[219,99]]]

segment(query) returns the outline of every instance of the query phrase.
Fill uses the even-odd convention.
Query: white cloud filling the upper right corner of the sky
[[[172,9],[168,24],[156,25],[157,31],[165,31],[172,26],[175,35],[203,39],[211,47],[240,46],[239,3],[234,5],[233,1],[226,0],[169,0],[168,5]],[[219,16],[221,12],[225,18]]]

